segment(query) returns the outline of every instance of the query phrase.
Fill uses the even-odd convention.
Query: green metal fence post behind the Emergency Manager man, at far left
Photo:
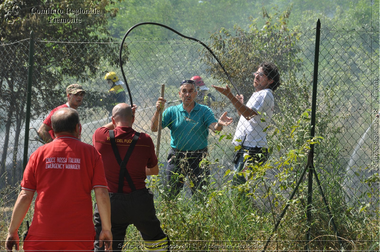
[[[34,64],[34,33],[30,32],[29,41],[29,66],[28,66],[28,87],[26,99],[26,118],[25,118],[25,138],[24,138],[24,158],[22,161],[22,172],[24,173],[29,149],[29,125],[30,125],[30,103],[32,100],[32,78],[33,78],[33,64]]]

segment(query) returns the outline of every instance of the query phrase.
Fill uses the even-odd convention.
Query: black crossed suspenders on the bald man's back
[[[120,165],[119,189],[117,190],[117,192],[120,194],[123,193],[124,177],[127,180],[129,186],[131,187],[132,192],[136,191],[135,184],[133,184],[131,176],[129,175],[126,167],[127,167],[128,159],[131,156],[133,149],[135,148],[135,145],[136,145],[137,140],[139,139],[139,136],[140,136],[140,132],[136,131],[135,136],[133,137],[133,140],[131,142],[131,145],[129,146],[127,153],[125,154],[124,160],[122,160],[119,154],[119,150],[117,150],[114,131],[112,129],[109,130],[109,140],[111,141],[112,150],[114,151],[116,160]]]

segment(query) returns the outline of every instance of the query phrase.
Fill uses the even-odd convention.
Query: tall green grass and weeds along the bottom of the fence
[[[300,121],[302,124],[302,120]],[[297,251],[305,249],[306,194],[307,179],[300,178],[300,173],[306,165],[309,144],[318,144],[320,138],[307,140],[298,148],[287,151],[281,157],[272,156],[266,164],[252,164],[245,173],[236,174],[218,162],[210,162],[210,167],[217,170],[204,179],[210,183],[207,191],[199,191],[190,196],[185,189],[174,199],[168,197],[168,189],[162,176],[152,176],[147,186],[155,194],[157,216],[163,230],[172,240],[172,248],[177,251],[255,251],[261,250],[271,234],[274,223],[288,201],[296,181],[302,180],[296,196],[290,202],[278,230],[275,232],[269,250]],[[216,167],[216,168],[215,168]],[[339,167],[331,164],[339,171]],[[346,205],[345,191],[342,190],[341,174],[331,168],[323,171],[323,165],[317,165],[321,170],[320,180],[330,203],[334,221],[339,234],[344,241],[344,251],[378,250],[376,241],[379,237],[379,212],[370,212],[369,208],[361,209],[355,205]],[[215,180],[223,170],[222,180]],[[274,172],[275,171],[275,172]],[[232,176],[245,175],[247,183],[234,186]],[[191,186],[191,181],[185,179],[185,184]],[[2,195],[16,196],[19,187],[6,188]],[[5,240],[9,225],[14,197],[2,197],[1,239]],[[33,207],[28,211],[28,220],[32,219]],[[20,237],[25,232],[23,223],[19,229]],[[313,193],[312,204],[312,250],[341,250],[340,244],[327,217],[325,206],[317,191]],[[128,244],[125,251],[141,250],[141,238],[134,227],[128,228],[125,238]],[[2,248],[3,249],[3,248]]]

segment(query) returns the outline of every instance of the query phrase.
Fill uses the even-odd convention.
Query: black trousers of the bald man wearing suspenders
[[[109,193],[109,198],[111,201],[112,250],[122,250],[125,232],[130,224],[135,225],[144,241],[158,241],[166,237],[160,227],[160,220],[156,216],[153,193],[149,189],[136,190],[130,194]],[[104,251],[104,245],[99,247],[101,220],[97,205],[95,205],[94,221],[95,251]]]

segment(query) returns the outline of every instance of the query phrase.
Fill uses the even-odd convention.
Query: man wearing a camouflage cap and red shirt
[[[82,86],[79,84],[70,84],[66,88],[66,96],[67,96],[67,102],[65,104],[62,104],[55,109],[53,109],[49,115],[46,117],[46,119],[41,124],[40,128],[38,129],[38,135],[39,137],[46,143],[51,142],[54,140],[55,135],[51,126],[51,116],[54,114],[55,111],[62,109],[62,108],[72,108],[77,109],[79,105],[81,105],[84,94],[86,91],[83,90]],[[79,124],[79,139],[81,137],[81,131],[82,126]]]

